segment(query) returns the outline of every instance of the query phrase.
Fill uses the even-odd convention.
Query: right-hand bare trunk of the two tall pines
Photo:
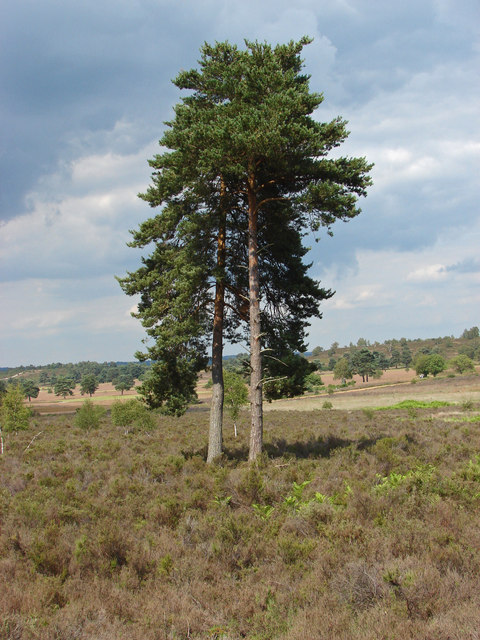
[[[260,327],[260,282],[258,272],[258,213],[255,194],[255,174],[251,168],[248,178],[248,284],[250,299],[250,452],[255,461],[263,445],[262,405],[262,345]]]

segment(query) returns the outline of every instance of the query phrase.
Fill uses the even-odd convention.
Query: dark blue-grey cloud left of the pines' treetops
[[[25,192],[60,157],[73,157],[72,137],[97,133],[98,147],[122,118],[143,123],[137,148],[158,135],[176,100],[170,79],[197,55],[197,42],[182,40],[184,12],[165,2],[8,5],[0,28],[3,218],[22,212]],[[190,29],[201,25],[196,18]]]

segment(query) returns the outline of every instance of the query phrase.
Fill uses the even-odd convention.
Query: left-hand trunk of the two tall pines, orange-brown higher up
[[[222,180],[220,195],[225,195]],[[223,206],[223,203],[222,205]],[[215,306],[213,314],[212,341],[212,403],[210,406],[210,431],[208,436],[207,462],[211,463],[222,455],[223,431],[223,318],[225,310],[225,258],[226,258],[226,215],[221,212],[217,237],[217,278],[215,283]]]

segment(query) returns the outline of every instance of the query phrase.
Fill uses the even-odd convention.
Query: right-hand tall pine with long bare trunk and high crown
[[[259,218],[271,202],[288,202],[301,229],[318,230],[359,213],[357,197],[370,184],[363,158],[329,160],[347,137],[336,118],[319,123],[321,104],[301,74],[300,52],[310,40],[277,45],[246,42],[246,50],[219,43],[202,49],[200,71],[183,72],[176,84],[194,92],[190,103],[212,106],[192,144],[205,149],[207,167],[233,178],[248,223],[251,438],[249,458],[262,449],[262,344]],[[185,101],[186,103],[187,101]]]

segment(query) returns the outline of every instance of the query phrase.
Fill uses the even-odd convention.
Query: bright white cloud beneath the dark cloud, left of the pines
[[[4,278],[81,277],[131,264],[128,229],[149,214],[136,194],[148,186],[150,152],[85,156],[46,176],[27,197],[29,212],[1,225]]]

